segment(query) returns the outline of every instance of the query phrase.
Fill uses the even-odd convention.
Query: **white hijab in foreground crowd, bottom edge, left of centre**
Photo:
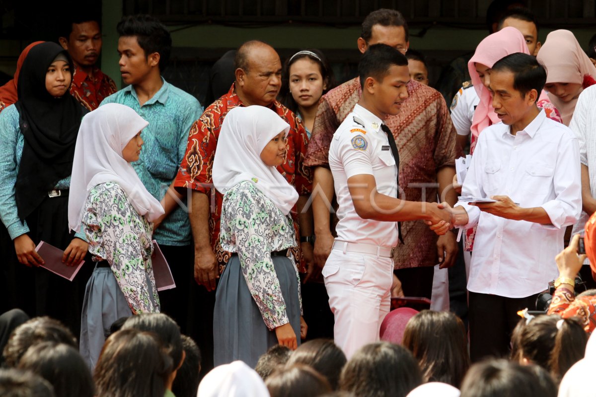
[[[197,397],[269,397],[265,383],[242,361],[219,365],[198,385]]]

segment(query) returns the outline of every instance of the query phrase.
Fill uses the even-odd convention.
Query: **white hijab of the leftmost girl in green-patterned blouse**
[[[87,196],[104,182],[120,185],[139,215],[154,221],[164,213],[162,205],[122,158],[122,149],[148,122],[125,105],[106,104],[89,112],[80,123],[75,160],[70,178],[69,227],[79,230]]]

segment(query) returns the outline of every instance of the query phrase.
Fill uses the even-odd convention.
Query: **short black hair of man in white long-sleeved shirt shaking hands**
[[[491,73],[495,71],[513,73],[513,88],[522,96],[525,96],[530,90],[536,90],[538,93],[536,100],[547,82],[547,70],[544,66],[535,57],[523,54],[523,52],[514,52],[498,60],[492,66]]]

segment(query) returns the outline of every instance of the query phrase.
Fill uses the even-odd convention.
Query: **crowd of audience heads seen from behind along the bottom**
[[[470,367],[462,321],[424,310],[409,319],[402,340],[365,345],[350,360],[332,340],[313,339],[295,351],[273,346],[254,370],[240,361],[221,365],[199,383],[200,351],[167,315],[128,317],[110,332],[91,374],[63,324],[48,317],[26,321],[4,347],[1,394],[416,397],[436,390],[449,397],[461,389],[464,397],[554,397],[564,374],[584,357],[588,340],[573,318],[526,316],[513,333],[510,360]]]

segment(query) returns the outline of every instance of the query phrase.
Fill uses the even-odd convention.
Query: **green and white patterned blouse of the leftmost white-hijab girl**
[[[108,261],[132,313],[159,312],[151,267],[153,225],[135,211],[122,187],[107,182],[91,189],[82,223],[89,252],[94,260]]]

